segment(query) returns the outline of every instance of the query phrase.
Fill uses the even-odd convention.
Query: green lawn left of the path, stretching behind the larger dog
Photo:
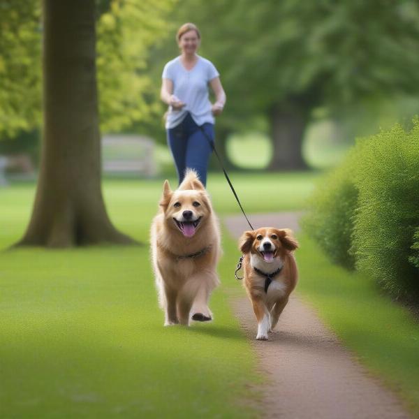
[[[311,187],[307,175],[235,180],[252,212],[297,208]],[[210,182],[217,211],[237,212],[223,177]],[[161,185],[107,180],[105,200],[118,228],[147,243]],[[295,194],[287,206],[277,196],[262,207],[253,202],[259,188]],[[0,249],[24,232],[33,198],[34,184],[0,189]],[[262,378],[228,304],[240,284],[235,242],[225,247],[223,286],[212,298],[216,321],[189,330],[163,328],[147,245],[0,253],[1,416],[255,416],[258,394],[249,383]]]

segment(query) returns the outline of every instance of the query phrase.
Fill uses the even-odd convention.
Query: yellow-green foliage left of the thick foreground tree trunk
[[[41,2],[0,2],[0,140],[41,124]]]

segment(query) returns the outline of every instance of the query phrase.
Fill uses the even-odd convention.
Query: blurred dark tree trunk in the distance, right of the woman
[[[307,112],[298,105],[274,105],[271,111],[273,156],[270,170],[304,170],[302,140],[307,126]]]

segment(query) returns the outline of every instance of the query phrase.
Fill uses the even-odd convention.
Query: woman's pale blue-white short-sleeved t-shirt
[[[169,106],[166,128],[179,125],[186,117],[186,112],[191,114],[198,125],[203,125],[205,122],[214,124],[208,83],[216,77],[219,77],[219,72],[216,71],[214,64],[199,55],[195,66],[189,71],[182,65],[180,57],[172,59],[164,66],[161,78],[172,80],[173,94],[186,103],[182,110],[174,110]]]

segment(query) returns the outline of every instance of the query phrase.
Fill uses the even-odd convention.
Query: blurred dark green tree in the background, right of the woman
[[[270,119],[271,168],[304,167],[301,145],[319,105],[419,90],[419,8],[413,0],[185,0],[203,52],[228,96],[220,122]]]

